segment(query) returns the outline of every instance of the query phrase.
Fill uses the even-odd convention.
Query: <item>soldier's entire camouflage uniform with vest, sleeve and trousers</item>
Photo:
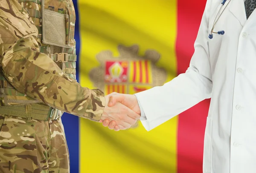
[[[0,0],[1,173],[68,173],[62,113],[103,113],[75,79],[75,20],[71,0]]]

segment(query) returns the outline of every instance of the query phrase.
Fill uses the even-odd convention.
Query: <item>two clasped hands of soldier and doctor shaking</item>
[[[140,107],[135,95],[111,93],[105,96],[106,105],[99,122],[109,129],[125,130],[140,119]]]

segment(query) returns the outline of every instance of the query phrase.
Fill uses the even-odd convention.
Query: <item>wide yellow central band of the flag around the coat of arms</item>
[[[154,49],[161,54],[157,66],[168,73],[166,82],[175,77],[171,72],[177,69],[176,0],[79,0],[78,3],[81,85],[95,88],[89,72],[100,66],[96,55],[110,50],[114,57],[119,57],[119,44],[139,45],[140,55]],[[132,65],[129,70],[131,74]],[[133,75],[129,75],[131,79]],[[176,173],[176,130],[177,118],[149,132],[140,122],[137,128],[115,132],[100,123],[80,119],[80,173]]]

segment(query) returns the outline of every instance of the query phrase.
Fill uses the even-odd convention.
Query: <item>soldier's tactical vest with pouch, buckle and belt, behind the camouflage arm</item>
[[[18,0],[38,28],[37,42],[69,77],[76,79],[76,14],[72,0]],[[28,119],[58,119],[63,112],[20,93],[0,70],[0,113]],[[10,106],[15,105],[15,106]]]

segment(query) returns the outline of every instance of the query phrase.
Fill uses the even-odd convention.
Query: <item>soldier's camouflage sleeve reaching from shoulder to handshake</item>
[[[99,121],[105,106],[102,91],[79,85],[39,52],[38,31],[16,0],[0,1],[0,65],[17,89],[54,108]]]

